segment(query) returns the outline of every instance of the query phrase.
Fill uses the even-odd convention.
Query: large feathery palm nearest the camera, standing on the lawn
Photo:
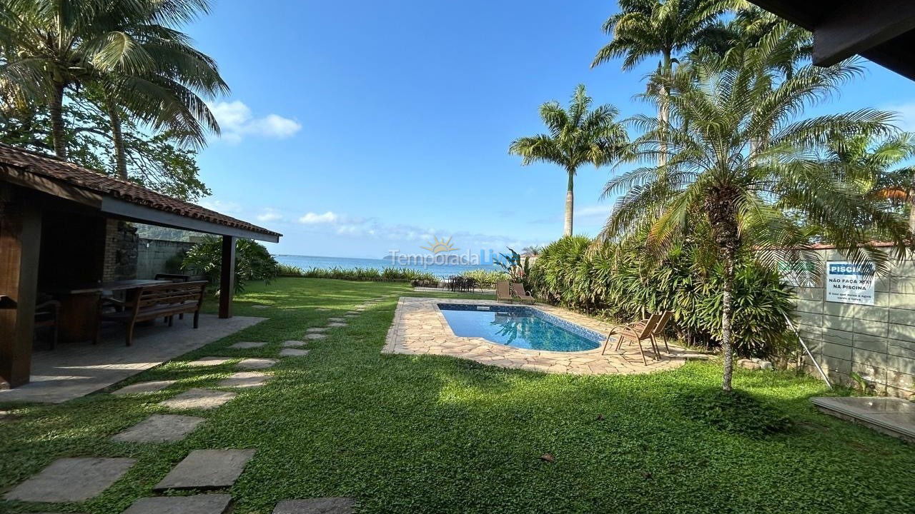
[[[670,119],[637,116],[643,134],[633,142],[643,166],[611,179],[605,195],[622,193],[602,235],[647,236],[648,252],[662,255],[695,230],[705,251],[721,267],[723,287],[720,341],[722,388],[731,390],[731,322],[735,262],[754,256],[775,267],[814,270],[807,227],[819,227],[849,259],[887,271],[891,256],[874,247],[873,236],[905,255],[911,233],[888,202],[862,195],[834,174],[825,145],[856,134],[893,134],[893,115],[865,109],[798,119],[803,108],[834,93],[861,70],[854,63],[804,67],[784,80],[772,68],[780,56],[770,45],[739,49],[722,59],[705,56],[661,77],[670,91]],[[662,140],[664,144],[662,145]]]

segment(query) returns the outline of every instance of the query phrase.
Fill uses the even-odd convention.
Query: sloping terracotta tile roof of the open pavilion
[[[232,227],[242,230],[251,230],[271,236],[280,236],[282,234],[273,230],[266,230],[248,223],[247,221],[236,220],[231,216],[226,216],[215,210],[204,209],[199,205],[192,204],[178,198],[171,198],[156,191],[147,189],[143,186],[122,180],[120,178],[108,177],[91,169],[77,166],[73,163],[52,157],[50,155],[39,154],[17,148],[16,146],[0,144],[0,164],[15,166],[27,170],[30,173],[44,177],[61,180],[72,186],[88,189],[102,195],[118,198],[127,202],[142,205],[151,209],[163,210],[197,220],[205,220],[217,225]]]

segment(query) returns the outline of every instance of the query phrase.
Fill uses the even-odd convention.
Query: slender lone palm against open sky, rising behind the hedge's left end
[[[509,153],[522,156],[522,165],[550,162],[563,166],[568,176],[565,190],[565,230],[572,235],[575,209],[575,176],[585,164],[604,166],[620,158],[628,145],[628,135],[617,121],[619,110],[608,104],[589,111],[591,97],[584,84],[578,85],[566,111],[559,102],[540,106],[540,117],[549,134],[537,134],[514,140]]]

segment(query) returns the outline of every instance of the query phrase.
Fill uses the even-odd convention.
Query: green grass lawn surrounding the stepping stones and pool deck
[[[302,337],[307,327],[391,293],[413,294],[392,283],[287,278],[249,284],[236,315],[268,320],[118,386],[179,380],[174,387],[148,396],[102,391],[62,405],[16,407],[16,420],[0,423],[0,490],[63,456],[128,456],[138,463],[86,503],[0,500],[0,512],[120,512],[150,496],[195,448],[257,449],[231,487],[235,514],[268,514],[281,499],[319,496],[358,498],[360,512],[911,511],[915,448],[815,412],[807,399],[824,392],[816,380],[737,370],[737,388],[776,408],[793,428],[762,438],[728,434],[677,406],[684,392],[715,391],[720,369],[714,364],[586,377],[382,355],[396,298],[310,342],[307,357],[282,359],[266,386],[242,391],[214,411],[194,412],[208,421],[182,442],[109,439],[164,412],[156,402],[212,387],[232,369],[192,369],[183,362],[273,356],[280,342]],[[332,310],[315,310],[321,306]],[[272,344],[226,348],[240,340]],[[554,462],[541,459],[544,454]]]

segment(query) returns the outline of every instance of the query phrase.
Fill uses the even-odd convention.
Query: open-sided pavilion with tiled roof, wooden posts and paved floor
[[[200,316],[197,330],[193,315],[172,316],[174,326],[159,317],[137,324],[132,346],[124,346],[123,332],[92,344],[100,333],[98,294],[124,289],[129,300],[133,283],[156,282],[131,280],[119,270],[124,221],[221,237],[218,316]],[[10,390],[0,391],[0,402],[62,402],[253,325],[260,318],[230,319],[235,242],[276,242],[280,235],[132,182],[0,145],[0,390]],[[64,301],[56,320],[59,343],[45,350],[48,345],[35,341],[36,305],[50,296]],[[206,293],[204,301],[211,296]]]

